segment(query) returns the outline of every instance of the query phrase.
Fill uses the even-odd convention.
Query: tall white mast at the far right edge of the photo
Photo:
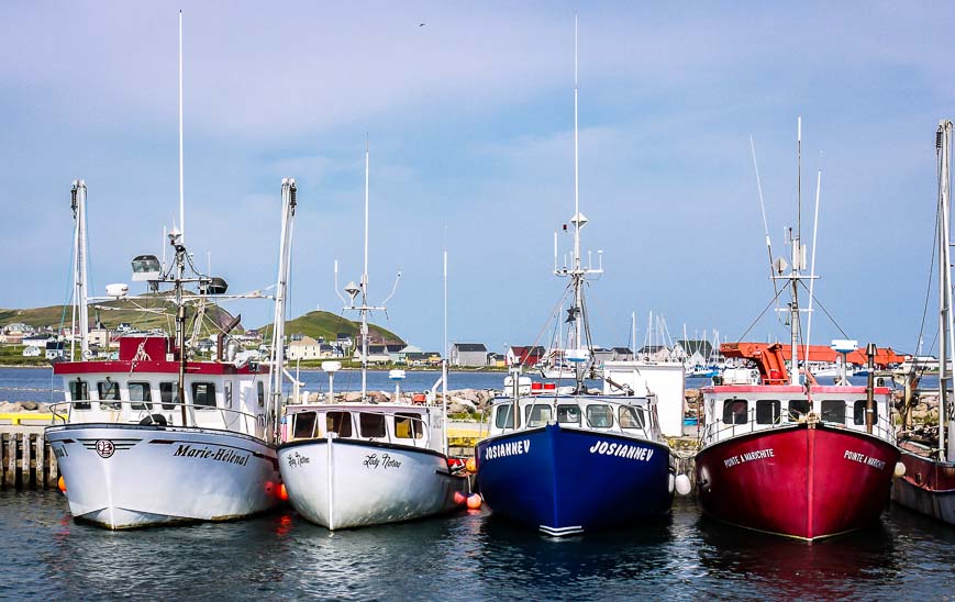
[[[935,134],[935,150],[939,156],[939,458],[945,459],[945,436],[948,415],[948,389],[952,386],[955,361],[955,333],[952,315],[952,252],[950,246],[950,153],[952,147],[952,122],[942,120]]]

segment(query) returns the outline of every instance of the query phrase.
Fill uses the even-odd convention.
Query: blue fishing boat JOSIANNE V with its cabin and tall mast
[[[687,477],[676,475],[656,397],[638,386],[636,368],[626,384],[607,378],[602,390],[585,384],[596,366],[584,288],[603,269],[599,259],[595,267],[580,258],[587,218],[577,196],[576,23],[574,76],[574,249],[560,268],[556,234],[554,239],[554,274],[569,280],[564,296],[570,300],[571,327],[563,356],[573,384],[522,389],[519,366],[511,387],[492,402],[489,436],[475,448],[478,486],[492,513],[555,537],[659,517],[669,511],[675,489],[690,489]]]

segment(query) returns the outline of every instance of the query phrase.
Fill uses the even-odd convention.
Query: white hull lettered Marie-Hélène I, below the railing
[[[208,428],[122,424],[52,426],[74,517],[107,528],[225,521],[275,508],[275,449]]]

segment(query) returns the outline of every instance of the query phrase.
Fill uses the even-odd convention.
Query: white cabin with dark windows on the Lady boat
[[[286,406],[282,442],[337,438],[444,448],[438,405],[314,403]]]

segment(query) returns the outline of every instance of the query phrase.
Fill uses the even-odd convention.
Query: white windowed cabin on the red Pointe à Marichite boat
[[[737,435],[819,421],[826,426],[866,432],[865,387],[713,386],[702,390],[704,444]],[[876,387],[873,433],[891,441],[889,389]]]

